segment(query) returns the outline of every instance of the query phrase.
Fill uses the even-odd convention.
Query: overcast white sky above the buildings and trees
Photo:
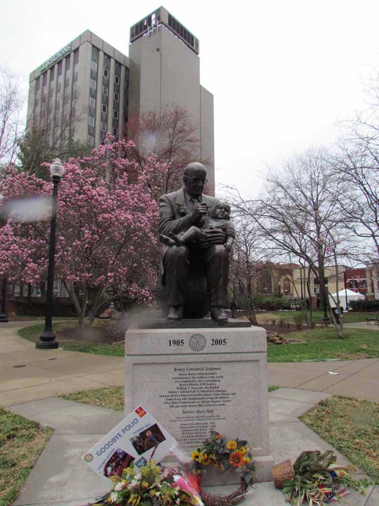
[[[159,6],[12,0],[2,9],[0,64],[27,82],[87,28],[127,55],[129,27]],[[336,120],[363,108],[361,76],[379,63],[377,0],[163,6],[200,40],[201,83],[214,95],[217,183],[255,194],[267,164],[333,142]]]

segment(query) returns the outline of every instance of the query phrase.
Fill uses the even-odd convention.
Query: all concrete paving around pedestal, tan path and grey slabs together
[[[66,401],[62,393],[119,386],[124,382],[124,359],[61,349],[36,350],[17,335],[36,322],[0,326],[0,405],[43,425],[55,428],[49,444],[31,472],[15,506],[79,506],[109,489],[80,459],[108,433],[121,412]],[[329,374],[338,372],[338,374]],[[331,447],[302,424],[298,416],[331,394],[379,400],[379,358],[354,361],[268,364],[269,384],[281,387],[269,393],[270,443],[274,461],[296,458],[303,450]],[[338,453],[338,452],[337,452]],[[347,462],[339,455],[339,462]],[[213,487],[227,494],[227,487]],[[246,506],[284,506],[282,493],[272,482],[257,484]],[[368,495],[349,495],[347,506],[376,506],[379,489]]]

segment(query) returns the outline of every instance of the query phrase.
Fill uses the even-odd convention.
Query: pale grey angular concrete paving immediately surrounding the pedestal
[[[329,394],[279,389],[269,393],[270,447],[275,463],[293,460],[301,451],[331,448],[298,416]],[[30,473],[14,506],[81,506],[109,491],[108,482],[93,473],[80,456],[121,421],[123,414],[60,398],[43,399],[10,406],[10,409],[44,425],[54,427],[50,442]],[[338,462],[348,461],[336,452]],[[363,478],[358,474],[356,478]],[[235,486],[210,487],[212,493],[227,494]],[[351,493],[341,504],[377,506],[379,488],[367,495]],[[243,502],[246,506],[286,506],[285,497],[273,482],[257,483]]]

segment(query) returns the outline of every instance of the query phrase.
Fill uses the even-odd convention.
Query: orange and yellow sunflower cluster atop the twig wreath
[[[212,432],[211,437],[203,441],[203,445],[191,453],[192,469],[195,476],[201,477],[207,472],[207,467],[227,472],[241,473],[241,483],[248,487],[253,483],[254,463],[247,441],[238,438],[227,441],[218,432]]]

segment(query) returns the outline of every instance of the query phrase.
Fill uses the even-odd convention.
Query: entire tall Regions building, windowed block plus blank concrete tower
[[[30,74],[28,129],[54,142],[122,139],[128,115],[173,103],[191,115],[214,194],[213,95],[200,85],[199,40],[163,7],[130,28],[129,58],[86,30]]]

